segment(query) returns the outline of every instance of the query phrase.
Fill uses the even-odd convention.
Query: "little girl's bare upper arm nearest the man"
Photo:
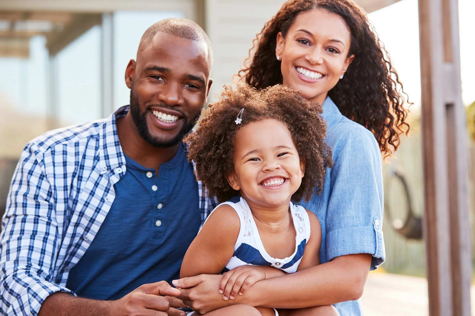
[[[215,209],[185,253],[180,278],[221,273],[234,253],[240,227],[234,208],[224,204]]]

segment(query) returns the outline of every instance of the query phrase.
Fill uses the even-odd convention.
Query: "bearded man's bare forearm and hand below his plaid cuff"
[[[57,292],[47,297],[38,316],[167,316],[171,303],[163,296],[178,296],[180,293],[165,281],[144,284],[115,301],[76,298]]]

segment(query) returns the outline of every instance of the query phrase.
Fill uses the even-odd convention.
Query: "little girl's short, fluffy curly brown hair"
[[[244,108],[242,122],[236,124]],[[315,186],[320,194],[326,167],[332,167],[332,151],[324,141],[326,124],[321,105],[299,96],[282,85],[257,90],[238,83],[235,90],[225,85],[217,102],[203,110],[198,129],[185,138],[188,160],[193,160],[196,176],[206,185],[209,196],[227,201],[239,192],[231,188],[226,176],[234,171],[234,140],[239,129],[251,122],[275,119],[290,131],[300,160],[305,162],[302,184],[292,195],[294,201],[310,200]]]

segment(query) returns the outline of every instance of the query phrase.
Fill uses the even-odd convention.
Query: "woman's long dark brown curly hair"
[[[251,86],[264,89],[282,84],[276,38],[285,38],[295,18],[312,9],[325,9],[343,18],[351,34],[348,55],[355,54],[345,76],[328,92],[342,114],[369,129],[385,157],[398,149],[399,135],[409,131],[408,110],[398,73],[365,13],[350,0],[289,0],[262,31],[249,50],[239,76]],[[252,52],[255,51],[254,54]],[[248,62],[251,61],[250,65]],[[247,66],[248,65],[248,66]],[[411,103],[409,103],[411,104]]]

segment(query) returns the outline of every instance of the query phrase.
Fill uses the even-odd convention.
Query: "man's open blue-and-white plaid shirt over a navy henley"
[[[47,132],[27,144],[7,198],[0,235],[0,313],[37,315],[66,289],[114,202],[126,172],[116,117]],[[201,223],[216,207],[198,182]]]

